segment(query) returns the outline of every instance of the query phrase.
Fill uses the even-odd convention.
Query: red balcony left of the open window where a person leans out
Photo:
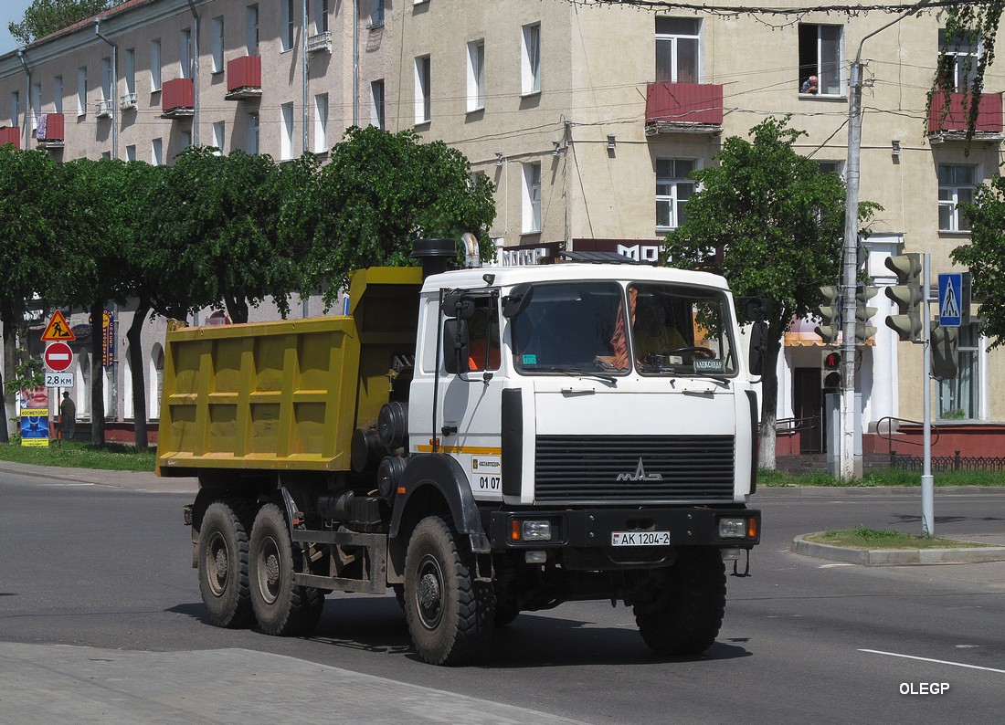
[[[645,90],[645,135],[723,133],[723,86],[649,83]]]

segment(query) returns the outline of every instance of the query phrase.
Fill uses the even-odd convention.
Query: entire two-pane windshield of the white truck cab
[[[525,375],[736,374],[726,295],[715,289],[634,282],[536,285],[513,320]]]

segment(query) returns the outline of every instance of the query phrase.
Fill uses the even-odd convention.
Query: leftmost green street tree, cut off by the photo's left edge
[[[25,303],[44,292],[58,237],[54,174],[55,164],[44,151],[0,148],[0,322],[5,368],[0,372],[4,401],[0,442],[9,440],[8,423],[15,413],[13,397],[3,391],[3,382],[12,380],[20,357],[17,337],[25,326]]]

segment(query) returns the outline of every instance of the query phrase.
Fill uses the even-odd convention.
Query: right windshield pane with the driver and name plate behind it
[[[628,285],[631,347],[642,375],[737,372],[726,295],[659,282]]]

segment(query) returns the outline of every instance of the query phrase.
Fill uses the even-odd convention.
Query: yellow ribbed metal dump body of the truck
[[[157,471],[348,471],[397,354],[415,353],[421,270],[372,267],[347,316],[181,327],[165,344]]]

